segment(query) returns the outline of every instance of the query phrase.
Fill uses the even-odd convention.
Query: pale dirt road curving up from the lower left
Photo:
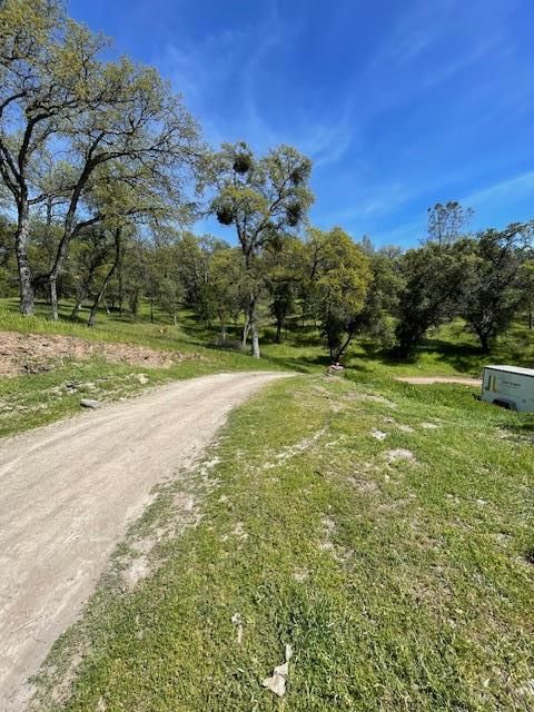
[[[219,374],[0,441],[0,712],[76,619],[155,484],[283,374]]]

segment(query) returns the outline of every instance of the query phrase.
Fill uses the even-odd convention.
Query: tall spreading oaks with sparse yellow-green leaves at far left
[[[0,177],[17,210],[21,310],[31,313],[46,280],[57,318],[58,279],[83,229],[190,219],[182,189],[202,152],[198,127],[155,69],[103,59],[106,40],[59,1],[8,0],[0,40]],[[59,239],[36,278],[28,233],[40,205],[59,208]]]

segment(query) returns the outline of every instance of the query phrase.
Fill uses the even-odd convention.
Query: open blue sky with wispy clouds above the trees
[[[314,160],[315,225],[416,244],[426,208],[534,217],[532,0],[75,0],[212,144]],[[224,228],[210,226],[229,237]]]

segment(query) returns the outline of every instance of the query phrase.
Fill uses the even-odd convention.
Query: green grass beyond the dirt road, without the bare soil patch
[[[169,323],[165,314],[156,312],[150,323],[145,305],[139,317],[103,310],[96,327],[85,324],[87,313],[77,322],[70,320],[72,305],[63,303],[60,320],[47,318],[49,307],[37,304],[36,317],[18,314],[16,299],[0,300],[0,332],[40,335],[75,336],[89,342],[141,345],[165,353],[179,353],[184,360],[170,368],[147,368],[110,363],[103,358],[63,360],[46,373],[0,378],[0,437],[11,435],[51,421],[72,415],[80,409],[81,398],[107,402],[136,395],[144,388],[178,378],[190,378],[222,370],[284,369],[296,373],[322,373],[328,357],[316,329],[303,328],[289,322],[283,344],[274,343],[274,329],[263,334],[263,358],[258,363],[248,354],[217,344],[216,328],[208,329],[191,314],[181,313],[178,326]],[[237,332],[231,334],[234,344]],[[492,362],[532,365],[534,339],[532,332],[516,325],[497,345],[495,354],[484,357],[461,323],[443,327],[432,335],[415,357],[407,362],[394,360],[388,354],[375,350],[365,340],[356,342],[345,359],[352,370],[368,377],[406,375],[479,375],[484,364]],[[141,375],[142,374],[142,375]]]

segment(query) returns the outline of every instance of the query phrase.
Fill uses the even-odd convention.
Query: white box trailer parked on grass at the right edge
[[[485,366],[481,399],[510,411],[534,412],[534,368]]]

